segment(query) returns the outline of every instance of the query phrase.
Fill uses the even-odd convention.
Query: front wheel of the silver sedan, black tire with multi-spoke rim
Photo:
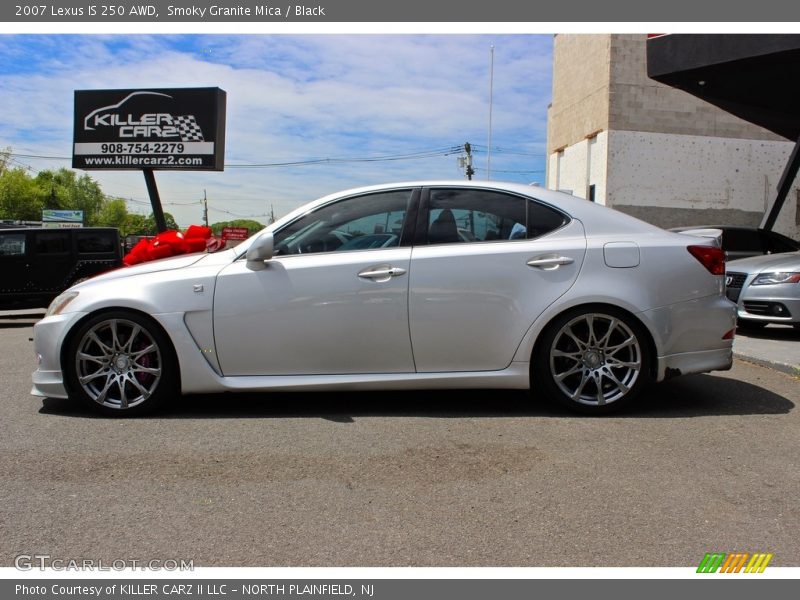
[[[81,323],[62,367],[70,397],[107,416],[149,413],[178,392],[169,338],[132,311],[99,313]]]

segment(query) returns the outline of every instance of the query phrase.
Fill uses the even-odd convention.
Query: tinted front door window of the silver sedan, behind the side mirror
[[[399,246],[410,200],[411,190],[395,190],[327,204],[277,232],[275,254]]]

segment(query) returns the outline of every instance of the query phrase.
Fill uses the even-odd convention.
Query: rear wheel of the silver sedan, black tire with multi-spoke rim
[[[566,408],[616,412],[650,381],[650,338],[625,311],[609,306],[570,310],[550,323],[536,346],[532,387]]]

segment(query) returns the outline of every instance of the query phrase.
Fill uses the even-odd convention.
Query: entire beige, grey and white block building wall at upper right
[[[547,187],[585,198],[594,183],[595,201],[661,227],[760,224],[793,143],[650,80],[645,45],[645,35],[555,37]],[[775,227],[794,238],[798,185]]]

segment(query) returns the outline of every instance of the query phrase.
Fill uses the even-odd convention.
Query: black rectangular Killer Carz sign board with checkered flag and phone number
[[[222,171],[225,91],[76,90],[76,169]]]

